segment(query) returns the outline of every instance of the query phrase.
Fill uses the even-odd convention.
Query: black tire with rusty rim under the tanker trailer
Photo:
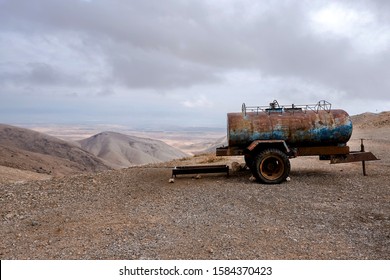
[[[290,168],[290,160],[285,153],[278,149],[267,149],[255,157],[252,173],[261,183],[280,184],[288,177]]]

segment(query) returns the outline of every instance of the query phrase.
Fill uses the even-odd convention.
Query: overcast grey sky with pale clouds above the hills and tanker
[[[0,0],[0,122],[219,126],[390,110],[390,1]]]

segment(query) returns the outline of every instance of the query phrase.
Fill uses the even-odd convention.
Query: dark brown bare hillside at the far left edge
[[[109,169],[76,145],[33,130],[0,124],[0,165],[51,175]]]

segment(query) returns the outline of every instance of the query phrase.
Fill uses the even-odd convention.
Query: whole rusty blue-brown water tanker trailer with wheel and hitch
[[[344,110],[331,109],[322,100],[314,105],[242,106],[240,113],[227,114],[227,147],[219,156],[243,155],[253,176],[261,183],[278,184],[290,172],[290,158],[319,156],[331,163],[377,160],[370,152],[351,152],[347,142],[352,121]]]

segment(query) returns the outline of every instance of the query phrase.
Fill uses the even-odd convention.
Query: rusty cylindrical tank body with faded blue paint
[[[228,114],[228,143],[247,147],[255,140],[284,140],[294,147],[343,146],[352,121],[343,110],[291,110]]]

